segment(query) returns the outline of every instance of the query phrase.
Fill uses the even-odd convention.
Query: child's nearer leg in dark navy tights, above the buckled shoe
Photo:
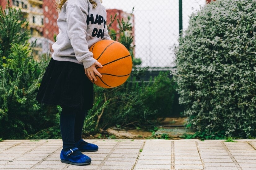
[[[63,107],[60,114],[60,132],[63,141],[63,150],[68,151],[74,147],[74,131],[75,131],[75,118],[77,111],[73,108]],[[77,153],[75,153],[77,152]],[[75,151],[73,155],[82,154],[80,151]]]

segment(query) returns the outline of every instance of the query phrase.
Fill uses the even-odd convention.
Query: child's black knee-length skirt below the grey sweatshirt
[[[93,106],[93,83],[86,77],[83,65],[51,58],[36,100],[89,110]]]

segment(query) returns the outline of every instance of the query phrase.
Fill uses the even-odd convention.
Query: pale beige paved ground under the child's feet
[[[92,162],[75,166],[60,162],[62,140],[4,140],[0,169],[86,170],[256,170],[256,140],[147,139],[86,140],[99,146],[84,152]]]

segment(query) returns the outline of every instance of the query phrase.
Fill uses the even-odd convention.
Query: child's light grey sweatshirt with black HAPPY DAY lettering
[[[52,45],[52,58],[83,64],[84,68],[96,62],[89,48],[103,39],[111,39],[106,26],[106,10],[99,0],[93,8],[89,0],[68,0],[57,19],[60,33]]]

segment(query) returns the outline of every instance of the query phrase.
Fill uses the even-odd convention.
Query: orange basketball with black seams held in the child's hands
[[[97,81],[90,80],[92,83],[104,88],[113,88],[128,79],[132,70],[132,58],[123,44],[114,40],[101,40],[89,50],[93,53],[93,58],[103,65],[102,68],[96,66],[102,77],[95,75]]]

